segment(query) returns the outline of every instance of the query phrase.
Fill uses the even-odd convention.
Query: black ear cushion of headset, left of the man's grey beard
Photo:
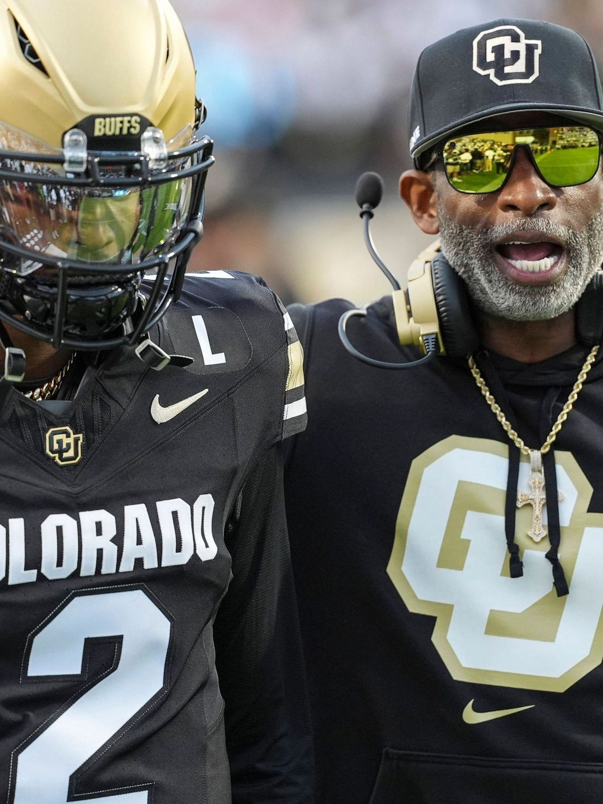
[[[445,353],[450,357],[468,357],[479,346],[467,286],[441,252],[431,263],[433,295]]]

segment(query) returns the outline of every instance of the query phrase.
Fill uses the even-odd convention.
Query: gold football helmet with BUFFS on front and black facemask
[[[203,232],[204,117],[167,0],[0,0],[0,321],[140,343]]]

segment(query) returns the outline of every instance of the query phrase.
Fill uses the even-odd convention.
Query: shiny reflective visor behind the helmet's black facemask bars
[[[14,169],[27,170],[27,163]],[[136,265],[169,251],[187,221],[191,183],[183,178],[142,189],[102,190],[5,181],[0,183],[0,235],[48,256]],[[21,275],[40,267],[36,260],[19,258],[10,265]]]

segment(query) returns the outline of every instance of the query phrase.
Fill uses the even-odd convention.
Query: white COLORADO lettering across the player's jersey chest
[[[212,533],[214,505],[211,494],[199,494],[192,505],[181,498],[159,500],[153,512],[159,525],[155,530],[144,503],[126,505],[119,517],[105,509],[81,511],[77,519],[51,514],[36,532],[22,517],[9,519],[0,524],[0,580],[17,585],[73,573],[133,572],[137,560],[138,568],[174,567],[195,554],[209,561],[218,552]],[[122,545],[121,555],[116,542]],[[38,566],[32,565],[32,555],[40,556]]]

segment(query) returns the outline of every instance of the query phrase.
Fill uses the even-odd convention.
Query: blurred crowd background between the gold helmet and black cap
[[[285,303],[388,289],[363,245],[363,170],[384,177],[373,236],[404,277],[429,243],[397,195],[420,51],[503,17],[580,31],[603,66],[601,0],[173,0],[215,139],[206,235],[191,269],[264,277]]]

